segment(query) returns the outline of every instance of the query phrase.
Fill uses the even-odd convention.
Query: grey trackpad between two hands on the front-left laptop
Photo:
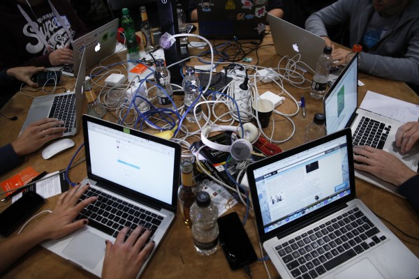
[[[85,251],[85,248],[89,251]],[[105,255],[105,248],[105,239],[91,232],[82,232],[68,243],[63,254],[73,259],[74,262],[94,269]]]

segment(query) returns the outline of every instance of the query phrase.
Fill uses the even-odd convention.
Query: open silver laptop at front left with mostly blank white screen
[[[85,114],[82,126],[87,165],[82,185],[90,183],[92,193],[86,195],[99,199],[82,211],[80,218],[89,218],[86,227],[47,241],[43,247],[101,277],[105,239],[115,241],[125,226],[135,229],[142,224],[152,229],[152,255],[156,252],[177,210],[181,148],[175,142]]]

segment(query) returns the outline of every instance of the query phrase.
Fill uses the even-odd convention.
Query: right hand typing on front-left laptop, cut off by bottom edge
[[[115,243],[106,241],[105,259],[103,261],[102,278],[136,278],[138,272],[144,264],[147,256],[154,248],[154,241],[150,241],[145,245],[145,241],[149,237],[150,231],[145,232],[140,236],[142,227],[138,226],[131,232],[128,239],[124,241],[129,227],[122,229]],[[140,236],[140,237],[138,237]]]

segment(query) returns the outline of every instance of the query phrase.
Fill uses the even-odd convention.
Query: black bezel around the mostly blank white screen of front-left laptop
[[[129,188],[126,188],[122,185],[119,185],[117,183],[114,183],[112,181],[108,181],[107,179],[103,179],[99,176],[96,176],[95,174],[91,173],[91,158],[90,158],[90,152],[89,152],[89,135],[87,130],[87,124],[96,123],[102,126],[106,126],[108,128],[112,128],[115,130],[119,130],[124,133],[129,133],[130,135],[135,135],[138,137],[142,137],[145,140],[151,140],[152,142],[157,142],[160,144],[164,144],[166,146],[170,146],[173,149],[175,149],[175,157],[174,157],[174,169],[173,169],[173,181],[172,181],[172,201],[170,204],[166,202],[161,202],[158,199],[154,199],[153,197],[149,197],[147,195],[138,193],[134,190],[131,190]],[[125,126],[121,126],[117,123],[112,123],[109,121],[105,121],[103,119],[97,119],[96,117],[89,116],[87,114],[83,114],[82,116],[82,126],[83,126],[83,137],[84,137],[84,151],[86,155],[86,167],[87,167],[87,178],[91,179],[93,181],[96,181],[96,183],[105,188],[106,190],[109,190],[113,193],[116,193],[115,188],[117,188],[117,194],[122,195],[128,199],[132,199],[135,202],[140,202],[142,204],[147,204],[147,206],[150,206],[154,209],[167,209],[171,212],[177,211],[177,190],[179,188],[179,179],[180,179],[180,157],[182,148],[179,144],[176,142],[171,142],[169,140],[164,140],[160,137],[155,137],[154,135],[149,135],[147,133],[142,133],[138,130],[134,130],[133,128],[128,128]],[[159,172],[159,170],[156,170],[156,172]]]

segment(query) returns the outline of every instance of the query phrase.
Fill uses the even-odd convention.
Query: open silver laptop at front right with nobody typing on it
[[[253,163],[247,177],[282,279],[419,276],[419,259],[355,196],[350,129]]]

